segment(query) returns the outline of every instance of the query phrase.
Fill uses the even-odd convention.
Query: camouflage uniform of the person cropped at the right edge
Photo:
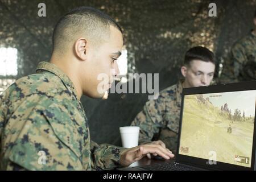
[[[225,60],[221,82],[256,80],[256,36],[250,32],[234,44]]]

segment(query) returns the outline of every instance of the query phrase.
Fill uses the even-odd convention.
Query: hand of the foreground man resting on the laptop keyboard
[[[141,160],[147,154],[159,155],[166,160],[174,158],[174,154],[167,148],[160,144],[148,143],[123,151],[120,157],[120,164],[125,167],[130,166],[130,164]]]

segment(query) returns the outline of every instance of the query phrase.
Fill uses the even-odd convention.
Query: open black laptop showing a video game
[[[254,170],[256,81],[183,89],[174,161],[125,170]]]

